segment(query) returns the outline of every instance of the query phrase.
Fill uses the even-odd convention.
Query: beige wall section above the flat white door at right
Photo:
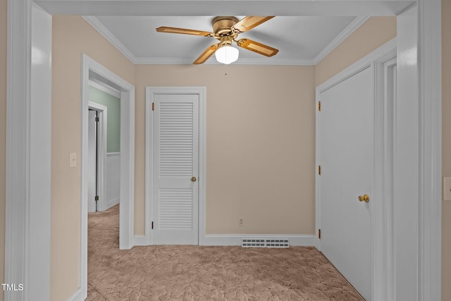
[[[316,86],[396,37],[396,17],[371,17],[316,65]]]

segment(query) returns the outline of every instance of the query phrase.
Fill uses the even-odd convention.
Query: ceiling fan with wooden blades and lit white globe
[[[242,32],[252,30],[261,23],[274,18],[273,16],[247,16],[242,20],[235,17],[216,17],[211,21],[213,25],[213,32],[206,32],[202,30],[189,30],[185,28],[176,27],[158,27],[157,32],[179,33],[183,35],[201,35],[203,37],[214,37],[219,42],[212,44],[201,54],[193,64],[204,63],[213,54],[216,54],[216,59],[220,63],[233,63],[238,59],[238,49],[230,47],[232,42],[235,42],[238,47],[257,52],[264,56],[273,56],[278,53],[278,49],[269,47],[268,45],[252,41],[252,39],[237,39]]]

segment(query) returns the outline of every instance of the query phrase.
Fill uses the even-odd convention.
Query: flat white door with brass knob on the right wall
[[[372,68],[320,94],[321,252],[371,299],[374,97]],[[369,195],[369,202],[359,196]]]

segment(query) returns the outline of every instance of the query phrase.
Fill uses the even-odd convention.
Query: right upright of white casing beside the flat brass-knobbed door
[[[396,51],[374,62],[375,157],[373,203],[373,300],[395,301],[393,156],[396,124]],[[394,84],[394,85],[393,85]]]

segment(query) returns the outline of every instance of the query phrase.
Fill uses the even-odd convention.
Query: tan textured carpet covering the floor
[[[364,300],[314,247],[118,250],[118,210],[89,213],[87,300]]]

